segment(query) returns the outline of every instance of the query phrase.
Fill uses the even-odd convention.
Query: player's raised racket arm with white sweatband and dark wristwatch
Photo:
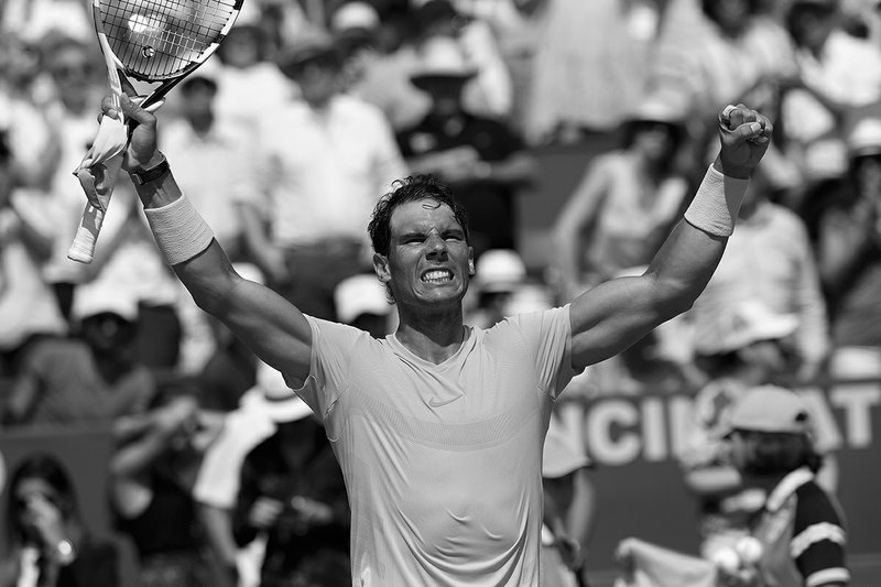
[[[109,99],[101,106],[105,115],[116,116]],[[133,173],[155,167],[164,160],[156,149],[155,117],[127,97],[122,98],[122,110],[138,122],[123,169]],[[171,171],[134,184],[160,250],[196,304],[289,380],[305,380],[312,330],[303,313],[269,287],[235,271],[207,225],[182,195]]]

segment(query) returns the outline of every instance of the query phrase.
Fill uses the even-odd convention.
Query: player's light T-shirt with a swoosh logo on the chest
[[[568,306],[468,328],[440,365],[309,317],[301,396],[352,512],[352,584],[537,586],[542,447],[575,374]]]

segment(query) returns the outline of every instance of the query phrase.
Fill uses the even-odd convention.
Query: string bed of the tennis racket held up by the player
[[[137,76],[174,75],[219,41],[235,0],[107,0],[104,30],[113,53]]]

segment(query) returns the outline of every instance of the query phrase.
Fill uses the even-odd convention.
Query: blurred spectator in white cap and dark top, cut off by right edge
[[[831,319],[836,378],[881,374],[881,118],[870,113],[849,137],[849,189],[819,215],[817,263]]]

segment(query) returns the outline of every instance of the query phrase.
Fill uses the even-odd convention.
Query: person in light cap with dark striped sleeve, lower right
[[[754,388],[735,404],[729,426],[731,461],[768,496],[749,528],[762,545],[758,577],[765,585],[847,585],[844,514],[817,483],[823,457],[805,402],[787,389]]]

